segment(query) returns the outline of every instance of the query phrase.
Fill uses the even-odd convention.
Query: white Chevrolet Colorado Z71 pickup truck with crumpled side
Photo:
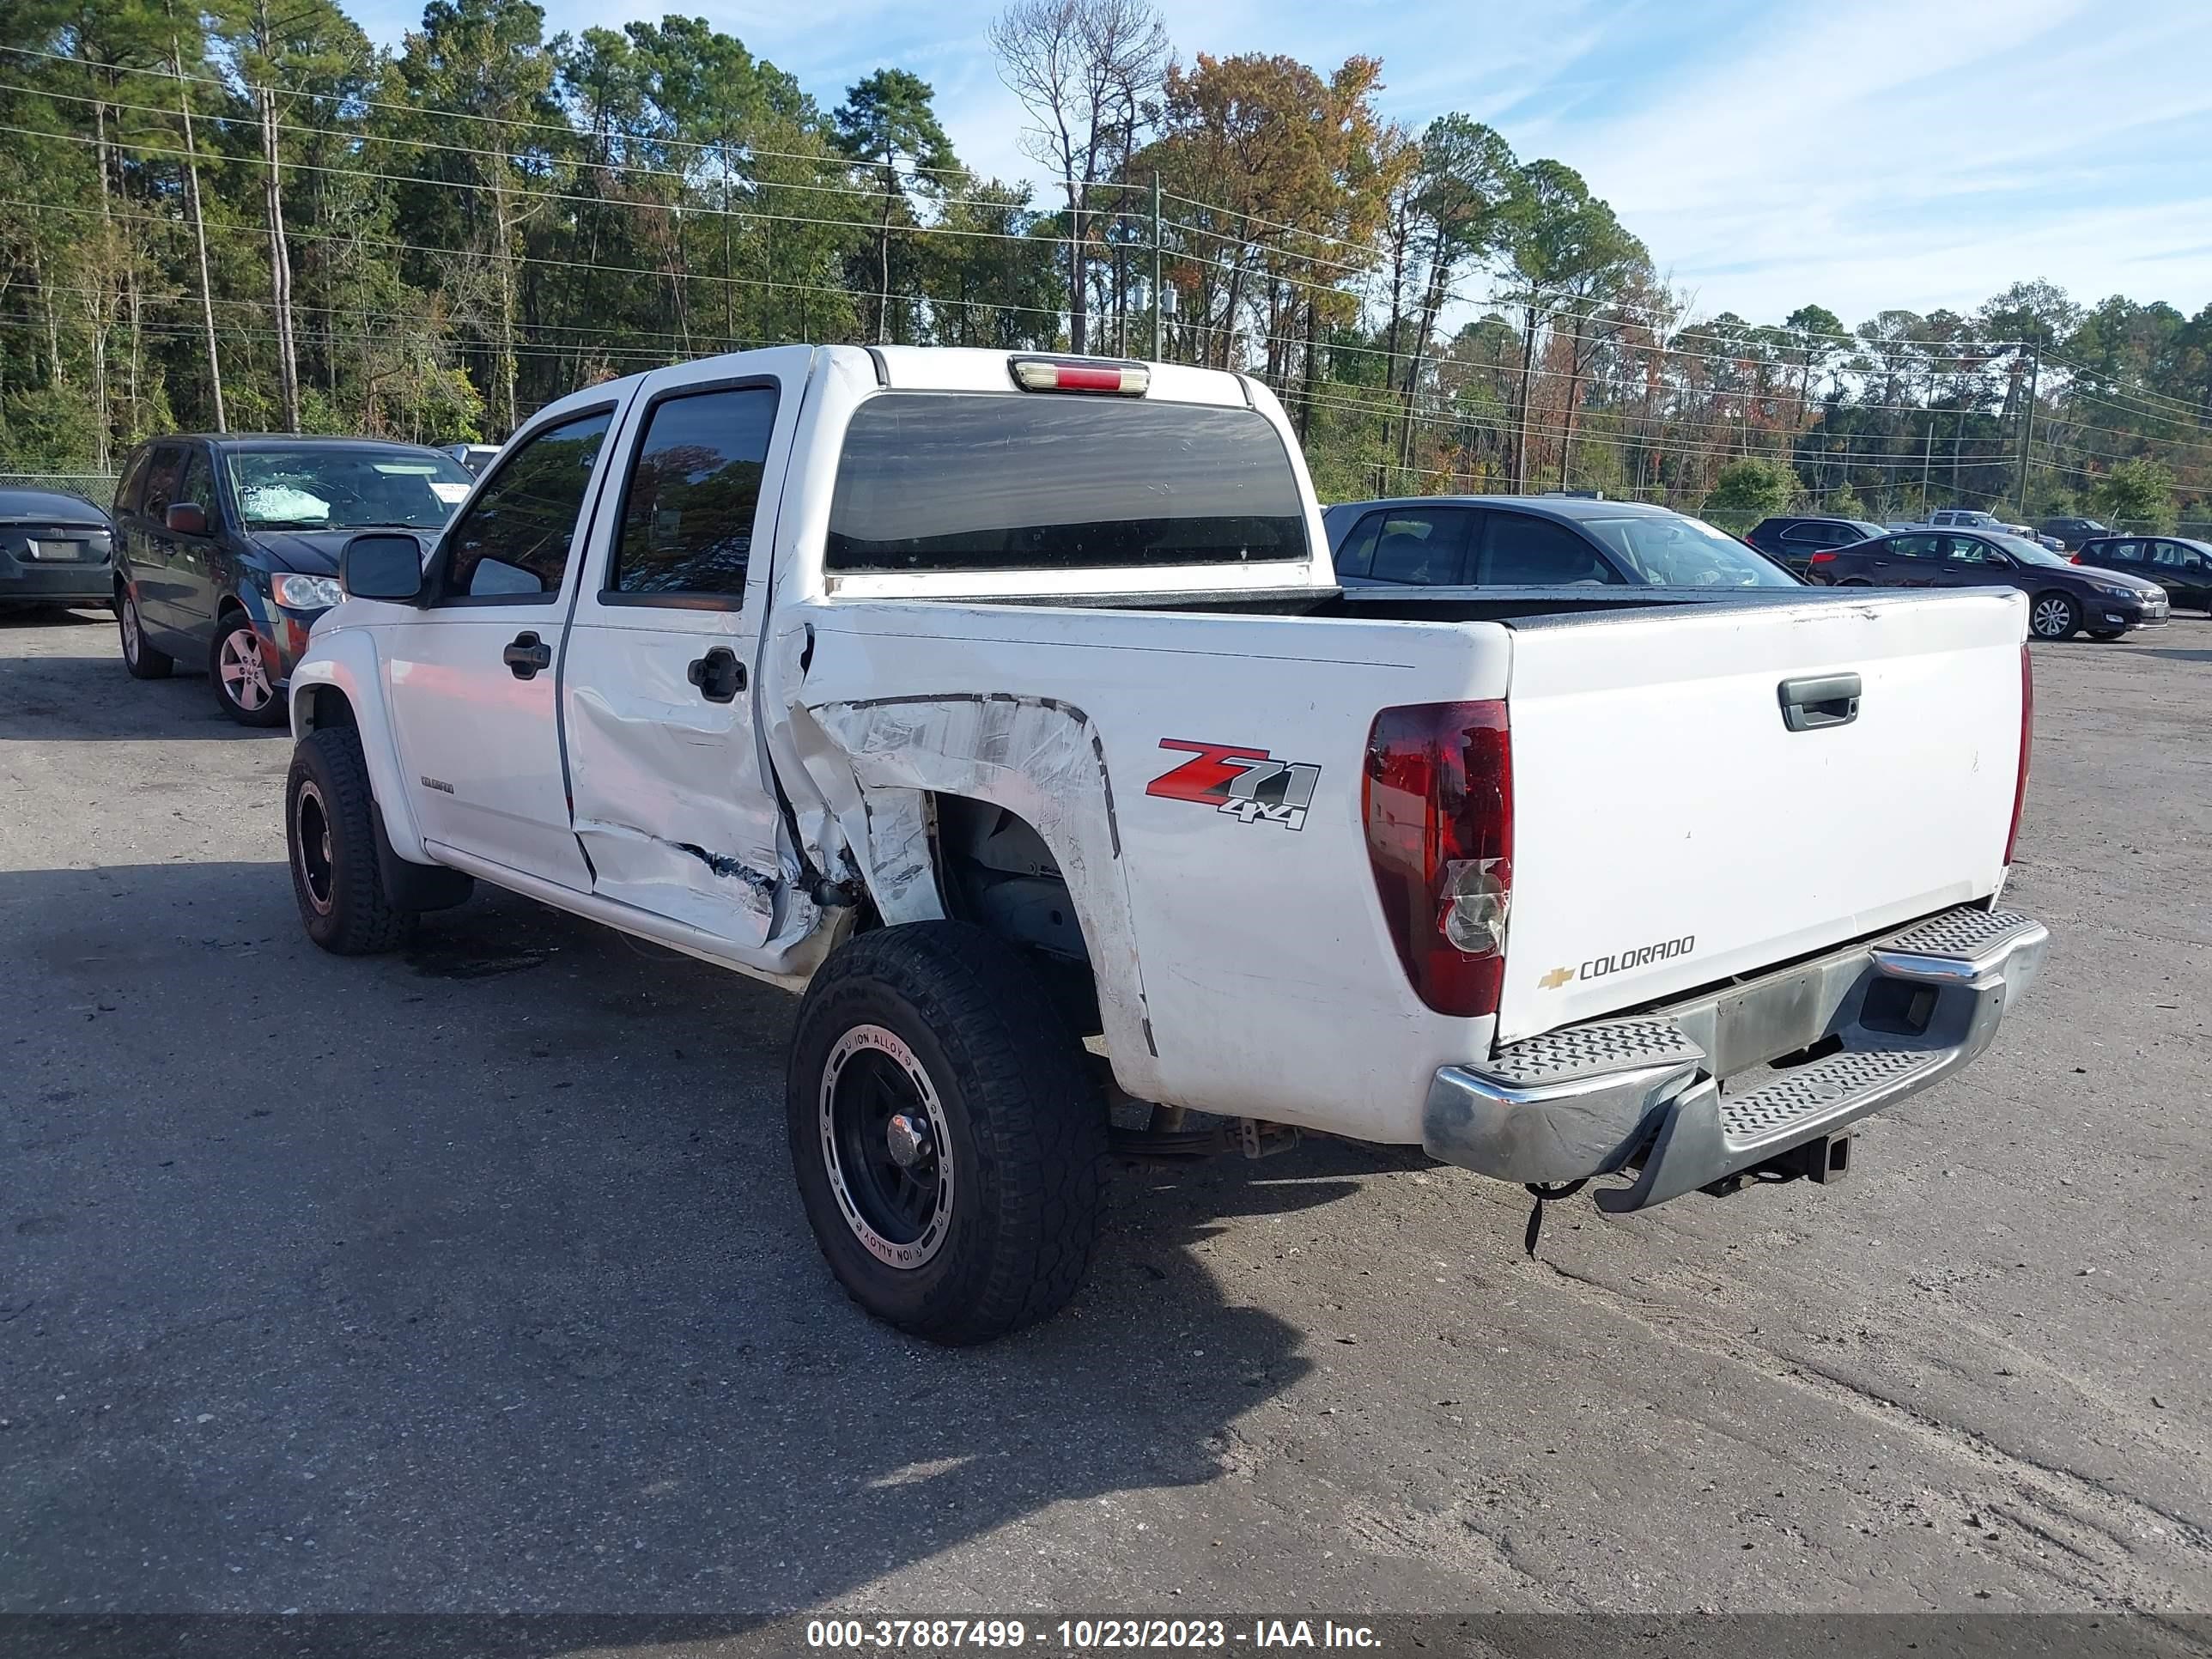
[[[940,1340],[1075,1292],[1110,1148],[1832,1179],[2044,953],[2024,599],[1721,580],[1345,595],[1239,374],[655,369],[347,546],[292,880],[341,953],[473,878],[803,991],[814,1234]]]

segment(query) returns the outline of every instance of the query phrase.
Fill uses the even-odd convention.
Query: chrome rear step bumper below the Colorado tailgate
[[[1646,1210],[1942,1082],[1991,1044],[2048,945],[2028,916],[1953,909],[1635,1020],[1551,1031],[1440,1068],[1422,1146],[1502,1181],[1635,1170],[1597,1203]],[[1805,1051],[1818,1057],[1743,1077]]]

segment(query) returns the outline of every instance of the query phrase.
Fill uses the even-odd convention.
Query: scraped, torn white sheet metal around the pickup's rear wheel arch
[[[1146,1042],[1113,781],[1091,719],[1044,697],[883,697],[792,708],[790,737],[885,920],[942,914],[927,792],[1002,805],[1044,838],[1091,947],[1115,1077],[1150,1099],[1157,1055]]]

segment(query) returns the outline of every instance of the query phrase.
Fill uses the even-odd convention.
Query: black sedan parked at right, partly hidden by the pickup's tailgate
[[[2119,571],[2088,571],[2051,549],[2002,531],[1905,531],[1878,542],[1814,553],[1809,575],[1840,588],[1989,588],[2028,595],[2037,639],[2119,639],[2163,628],[2170,615],[2157,582]]]

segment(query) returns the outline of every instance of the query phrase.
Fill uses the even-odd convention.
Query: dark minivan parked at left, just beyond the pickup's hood
[[[307,628],[338,602],[363,529],[438,531],[469,493],[440,449],[369,438],[177,436],[139,445],[115,491],[111,595],[124,668],[206,666],[223,710],[281,726]]]

